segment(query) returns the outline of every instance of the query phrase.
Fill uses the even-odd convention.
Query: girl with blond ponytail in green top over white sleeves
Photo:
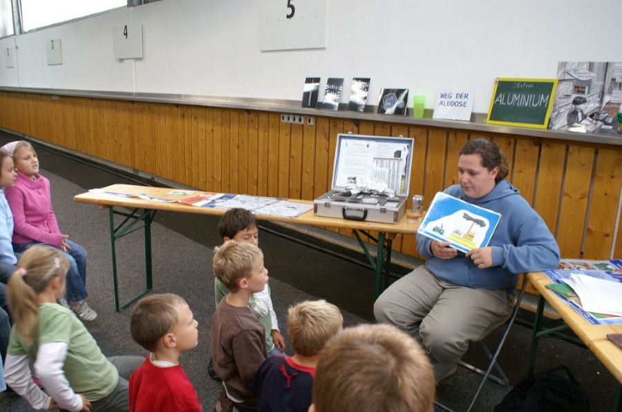
[[[28,249],[17,262],[8,283],[14,324],[6,382],[35,409],[128,411],[127,379],[142,357],[106,359],[84,324],[57,304],[67,271],[66,259],[48,246]]]

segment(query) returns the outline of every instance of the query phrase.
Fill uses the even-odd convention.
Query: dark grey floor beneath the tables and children
[[[0,145],[10,140],[6,135],[0,135]],[[89,188],[131,181],[43,148],[39,148],[38,153],[41,173],[52,184],[53,204],[61,230],[88,251],[88,302],[99,313],[95,322],[86,324],[88,330],[106,355],[144,355],[145,351],[133,342],[129,333],[131,308],[120,313],[114,311],[108,213],[96,206],[72,201],[74,195]],[[213,247],[220,243],[216,223],[214,217],[159,212],[152,234],[154,292],[178,293],[185,297],[199,322],[198,347],[186,353],[181,363],[194,383],[205,411],[213,409],[220,389],[220,384],[207,375],[209,324],[214,313],[211,257]],[[314,247],[292,242],[272,234],[273,229],[275,226],[270,225],[261,229],[260,247],[270,270],[272,300],[283,335],[287,335],[287,308],[306,299],[323,298],[337,304],[343,311],[346,326],[373,321],[373,273],[357,263],[364,262],[364,257],[321,242],[313,242]],[[318,248],[326,248],[333,254]],[[122,297],[127,299],[142,288],[144,251],[140,232],[121,239],[117,251]],[[334,253],[348,255],[349,259],[342,259]],[[394,271],[405,273],[406,269],[395,268]],[[521,317],[529,320],[529,314]],[[492,344],[498,338],[498,333],[493,333],[487,341]],[[500,364],[511,385],[527,373],[530,340],[529,327],[517,324],[502,351]],[[481,364],[482,357],[479,347],[473,345],[465,360]],[[590,393],[592,410],[612,409],[616,381],[590,351],[561,340],[543,340],[538,352],[538,370],[558,364],[566,364],[574,371]],[[438,386],[437,398],[453,409],[464,410],[469,404],[469,394],[477,384],[476,375],[459,369]],[[487,384],[473,410],[491,411],[507,391],[507,387]],[[0,411],[31,410],[28,403],[17,395],[0,393]]]

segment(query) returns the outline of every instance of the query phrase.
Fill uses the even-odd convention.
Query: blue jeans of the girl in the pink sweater
[[[86,251],[82,246],[77,243],[73,243],[70,240],[67,240],[66,243],[70,246],[70,251],[65,253],[60,249],[57,249],[69,262],[69,271],[67,273],[67,281],[65,286],[65,291],[67,295],[67,300],[69,302],[77,302],[79,300],[86,299],[88,293],[86,292]],[[48,247],[53,247],[47,244],[42,244],[39,242],[30,242],[30,243],[14,243],[13,251],[15,253],[23,253],[32,246],[44,245]]]

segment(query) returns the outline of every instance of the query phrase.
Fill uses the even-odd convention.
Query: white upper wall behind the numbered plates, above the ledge
[[[460,86],[487,112],[496,77],[622,61],[620,0],[329,0],[326,49],[282,52],[259,50],[260,3],[163,0],[0,39],[18,46],[16,68],[0,58],[0,86],[298,100],[305,77],[344,77],[345,102],[352,77],[371,77],[368,104],[409,88],[430,108],[437,88]],[[144,25],[143,59],[113,59],[112,28],[126,23]],[[46,64],[50,39],[62,66]]]

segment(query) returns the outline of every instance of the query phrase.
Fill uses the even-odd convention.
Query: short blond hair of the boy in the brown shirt
[[[223,282],[229,292],[236,293],[238,282],[249,277],[259,262],[263,262],[260,248],[254,244],[229,240],[216,248],[212,267],[216,278]]]

